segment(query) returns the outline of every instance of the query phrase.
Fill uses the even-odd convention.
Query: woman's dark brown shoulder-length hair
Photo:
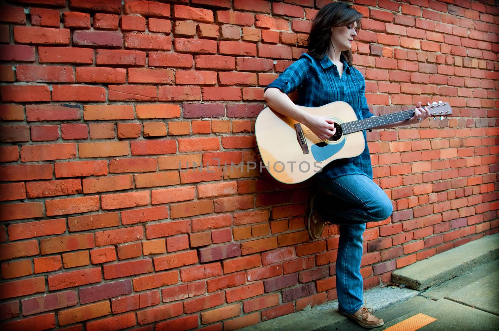
[[[357,30],[360,28],[362,14],[344,2],[332,2],[323,6],[312,22],[312,28],[308,36],[308,54],[318,59],[326,56],[331,44],[331,28],[345,26],[357,22]],[[352,51],[341,52],[345,61],[352,64]]]

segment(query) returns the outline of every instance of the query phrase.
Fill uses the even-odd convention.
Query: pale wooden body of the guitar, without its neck
[[[357,116],[349,104],[336,101],[321,107],[298,106],[304,111],[334,120],[335,123],[356,121]],[[302,139],[308,153],[304,153],[297,137],[297,122],[270,108],[263,109],[255,123],[256,144],[263,164],[278,181],[292,184],[302,182],[330,162],[353,158],[364,151],[362,131],[348,135],[335,135],[335,140],[321,141],[301,124]],[[341,128],[337,127],[341,131]]]

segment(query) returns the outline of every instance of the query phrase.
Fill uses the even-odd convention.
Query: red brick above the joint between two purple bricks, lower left
[[[50,291],[65,289],[69,287],[99,283],[102,281],[101,269],[90,268],[48,276],[48,289]]]

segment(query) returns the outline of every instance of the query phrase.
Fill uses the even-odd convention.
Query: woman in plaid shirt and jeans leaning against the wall
[[[352,66],[350,48],[361,17],[361,13],[346,3],[326,4],[313,20],[308,54],[302,54],[265,88],[263,97],[269,107],[304,124],[321,140],[335,133],[334,122],[299,109],[287,94],[297,89],[298,104],[302,106],[319,107],[333,101],[344,101],[354,109],[359,119],[375,116],[367,106],[364,77]],[[415,124],[428,116],[428,109],[421,108],[421,103],[418,103],[413,118],[375,129]],[[336,259],[339,312],[364,328],[381,327],[383,320],[372,315],[373,310],[365,307],[362,298],[362,234],[367,222],[390,217],[392,203],[372,180],[367,142],[361,155],[334,161],[313,178],[324,193],[312,196],[310,200],[307,222],[310,236],[320,238],[325,222],[339,224]]]

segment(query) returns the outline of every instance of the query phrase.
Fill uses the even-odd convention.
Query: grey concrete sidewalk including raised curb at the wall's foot
[[[392,280],[405,288],[377,287],[364,292],[367,307],[385,321],[385,326],[373,330],[387,329],[418,313],[437,319],[422,331],[497,330],[498,258],[499,233],[396,270]],[[240,330],[366,329],[338,314],[338,303],[333,301]]]

